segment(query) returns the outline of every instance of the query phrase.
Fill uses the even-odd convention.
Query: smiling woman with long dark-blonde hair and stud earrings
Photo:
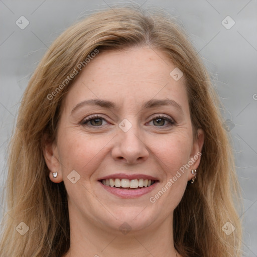
[[[20,107],[0,255],[240,256],[218,106],[159,11],[114,8],[66,30]]]

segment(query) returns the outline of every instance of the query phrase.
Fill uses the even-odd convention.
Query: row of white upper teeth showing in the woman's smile
[[[154,180],[151,179],[103,179],[103,185],[111,187],[122,187],[122,188],[139,188],[149,187],[154,184]]]

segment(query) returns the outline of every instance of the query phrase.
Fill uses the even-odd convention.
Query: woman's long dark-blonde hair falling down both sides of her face
[[[44,135],[55,140],[62,101],[75,78],[60,85],[74,68],[96,49],[101,53],[130,46],[163,51],[184,73],[195,136],[200,127],[205,134],[197,180],[187,186],[174,210],[176,249],[184,257],[240,256],[241,227],[234,207],[239,187],[208,72],[172,18],[159,10],[145,13],[134,7],[100,11],[73,25],[54,41],[34,72],[10,143],[8,214],[3,219],[0,256],[56,257],[69,249],[66,190],[63,182],[49,179]],[[57,88],[61,90],[49,100]],[[17,230],[20,222],[29,227],[24,235]],[[226,222],[235,228],[230,234],[223,232]]]

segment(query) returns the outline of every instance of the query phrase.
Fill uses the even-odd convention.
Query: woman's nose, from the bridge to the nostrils
[[[127,164],[142,163],[149,157],[146,143],[135,126],[127,132],[118,131],[111,154],[114,160],[122,160]]]

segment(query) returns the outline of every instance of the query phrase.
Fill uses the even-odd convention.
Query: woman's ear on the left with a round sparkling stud
[[[60,183],[63,181],[62,172],[61,172],[61,165],[59,162],[58,150],[56,142],[52,142],[49,140],[47,135],[43,136],[42,140],[42,150],[43,155],[45,158],[46,165],[49,169],[49,178],[54,183]],[[53,172],[58,172],[56,178],[53,176]]]

